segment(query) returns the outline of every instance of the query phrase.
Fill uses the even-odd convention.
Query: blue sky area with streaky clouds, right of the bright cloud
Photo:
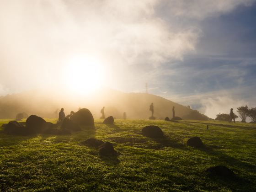
[[[157,72],[154,79],[148,79],[153,88],[149,92],[210,117],[238,105],[255,107],[256,3],[206,18],[199,25],[202,31],[194,53],[152,69]],[[214,101],[219,107],[214,107]]]

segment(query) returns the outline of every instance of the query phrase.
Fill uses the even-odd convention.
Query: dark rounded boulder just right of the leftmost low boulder
[[[31,115],[26,120],[26,129],[28,133],[40,133],[47,128],[46,121],[42,117]]]

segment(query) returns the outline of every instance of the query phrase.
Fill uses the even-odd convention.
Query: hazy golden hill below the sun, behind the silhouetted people
[[[89,96],[77,96],[64,91],[27,91],[0,97],[0,118],[15,118],[17,113],[26,112],[41,117],[57,117],[59,109],[64,107],[65,113],[77,111],[79,107],[88,108],[94,117],[100,117],[100,110],[105,106],[105,116],[123,118],[123,112],[128,118],[148,119],[151,116],[149,105],[154,103],[157,119],[172,117],[172,107],[176,116],[186,119],[208,120],[208,117],[186,106],[182,106],[163,97],[147,93],[123,93],[112,89],[102,89]]]

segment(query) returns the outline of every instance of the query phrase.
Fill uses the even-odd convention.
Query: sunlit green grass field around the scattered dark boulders
[[[0,126],[8,121],[1,120]],[[256,191],[255,124],[115,120],[115,126],[107,126],[101,122],[96,119],[93,130],[64,136],[0,133],[0,190]],[[159,126],[166,138],[142,136],[146,125]],[[192,136],[199,136],[205,148],[187,147]],[[97,149],[80,144],[88,138],[113,143],[117,157],[101,157]],[[210,175],[205,170],[213,165],[227,166],[238,179]]]

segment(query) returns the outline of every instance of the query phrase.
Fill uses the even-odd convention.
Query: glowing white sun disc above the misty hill
[[[103,75],[103,65],[99,59],[75,56],[67,63],[66,85],[77,93],[89,94],[102,85]]]

